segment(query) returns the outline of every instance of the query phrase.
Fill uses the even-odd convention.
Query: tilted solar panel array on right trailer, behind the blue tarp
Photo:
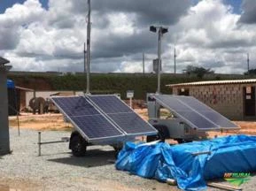
[[[196,98],[182,95],[152,95],[162,106],[200,130],[235,129],[236,124]]]

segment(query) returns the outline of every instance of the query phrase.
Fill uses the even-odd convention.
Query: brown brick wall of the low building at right
[[[253,84],[225,84],[206,85],[190,87],[174,87],[173,94],[178,95],[179,89],[189,88],[190,96],[194,96],[199,101],[206,103],[213,110],[233,120],[244,119],[244,95],[243,88],[247,86],[256,87]],[[254,117],[256,118],[256,117]]]

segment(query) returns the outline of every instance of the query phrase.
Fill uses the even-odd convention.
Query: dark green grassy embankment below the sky
[[[157,89],[157,75],[154,73],[91,73],[91,93],[112,94],[120,93],[121,98],[126,98],[127,90],[135,90],[136,99],[145,99],[146,93],[153,93]],[[86,88],[86,76],[83,73],[31,73],[10,72],[8,78],[14,80],[16,86],[32,88],[35,90],[75,90],[82,91]],[[198,79],[187,74],[161,74],[161,92],[171,94],[167,84],[191,82],[198,80],[236,80],[252,78],[252,76],[210,74]]]

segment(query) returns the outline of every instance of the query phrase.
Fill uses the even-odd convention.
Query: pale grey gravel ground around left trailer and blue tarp
[[[43,145],[42,157],[37,157],[36,131],[22,129],[18,136],[17,130],[11,128],[10,134],[12,154],[0,157],[0,190],[178,190],[115,170],[111,163],[112,147],[92,146],[86,157],[72,157],[68,143],[57,143]],[[46,131],[42,133],[42,141],[58,141],[69,135]],[[241,187],[255,190],[256,177]]]

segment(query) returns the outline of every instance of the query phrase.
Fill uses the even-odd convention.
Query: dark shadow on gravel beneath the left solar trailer
[[[115,160],[114,156],[114,150],[105,151],[100,149],[93,149],[86,151],[86,155],[84,157],[74,157],[71,155],[70,157],[53,158],[49,159],[48,161],[89,168],[112,164]]]

